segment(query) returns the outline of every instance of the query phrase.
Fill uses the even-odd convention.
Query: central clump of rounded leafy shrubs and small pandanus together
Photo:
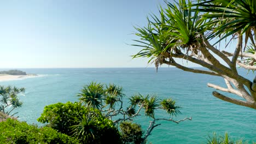
[[[79,102],[45,106],[38,122],[48,123],[49,127],[76,137],[81,143],[145,143],[152,130],[160,125],[156,122],[191,120],[155,117],[155,110],[164,110],[171,116],[181,113],[174,100],[137,94],[130,97],[130,105],[123,108],[124,97],[122,87],[91,82],[78,94]],[[140,125],[131,123],[142,110],[153,119],[145,133]]]

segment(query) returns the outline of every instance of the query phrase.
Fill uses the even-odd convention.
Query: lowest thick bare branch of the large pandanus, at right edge
[[[229,97],[226,97],[225,95],[222,95],[222,94],[220,94],[216,91],[212,92],[212,95],[216,98],[219,98],[219,99],[224,100],[224,101],[228,101],[229,103],[232,103],[232,104],[251,107],[253,109],[256,109],[255,102],[249,102],[249,101],[243,101],[243,100],[229,98]]]

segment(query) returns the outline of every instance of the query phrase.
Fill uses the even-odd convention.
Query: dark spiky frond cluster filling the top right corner
[[[230,35],[235,35],[237,32],[241,32],[241,34],[245,34],[245,47],[248,39],[251,39],[252,43],[255,42],[255,0],[211,0],[203,1],[196,5],[201,7],[196,10],[206,12],[204,17],[213,19],[211,23],[216,24],[209,38],[219,35],[221,37],[220,40],[222,40]]]

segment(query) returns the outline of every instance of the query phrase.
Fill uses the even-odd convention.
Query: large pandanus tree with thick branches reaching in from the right
[[[148,26],[136,28],[139,40],[134,46],[142,50],[133,58],[147,57],[156,69],[167,64],[191,73],[222,77],[226,87],[212,83],[208,87],[238,98],[217,91],[212,92],[214,97],[256,109],[256,77],[246,79],[237,70],[256,70],[256,1],[180,0],[166,4],[159,16],[150,15]],[[234,48],[224,51],[226,46]],[[189,68],[181,60],[206,70]]]

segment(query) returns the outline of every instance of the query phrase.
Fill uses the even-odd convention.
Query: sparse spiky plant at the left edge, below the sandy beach
[[[24,92],[25,88],[0,86],[0,111],[10,115],[14,109],[21,107],[22,102],[19,100],[18,96]],[[15,115],[16,113],[13,113],[11,116]]]

